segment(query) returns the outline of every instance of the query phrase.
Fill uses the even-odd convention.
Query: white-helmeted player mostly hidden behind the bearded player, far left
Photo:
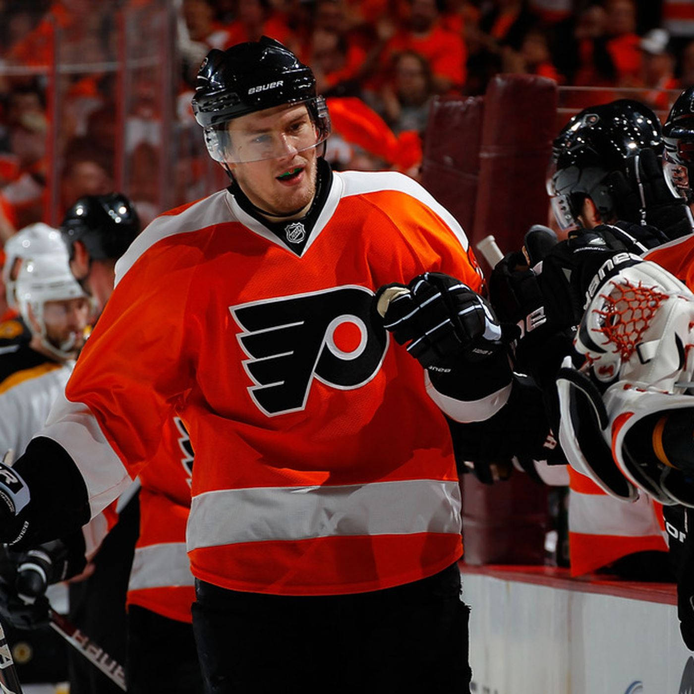
[[[17,312],[15,282],[22,262],[37,255],[65,255],[65,245],[57,229],[37,222],[20,229],[3,247],[5,263],[2,267],[2,282],[5,285],[8,315],[0,323],[0,354],[17,349],[22,342],[31,339],[31,332]]]

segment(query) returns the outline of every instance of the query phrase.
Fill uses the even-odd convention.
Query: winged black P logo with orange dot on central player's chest
[[[314,378],[351,390],[380,369],[387,332],[371,321],[373,291],[347,285],[230,307],[243,332],[248,388],[267,416],[304,409]]]

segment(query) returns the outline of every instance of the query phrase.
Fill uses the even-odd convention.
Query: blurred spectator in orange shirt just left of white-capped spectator
[[[633,0],[608,0],[607,51],[616,69],[617,86],[633,86],[641,77],[641,38],[636,34]]]

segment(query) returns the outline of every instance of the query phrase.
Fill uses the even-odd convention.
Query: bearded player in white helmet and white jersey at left
[[[35,251],[35,238],[27,236],[24,235],[27,246],[33,246]],[[3,455],[10,449],[20,454],[33,434],[44,425],[53,401],[65,389],[74,358],[84,344],[89,301],[70,272],[59,235],[58,243],[58,253],[25,258],[13,282],[15,305],[31,337],[28,341],[15,340],[12,348],[0,356],[0,450]],[[80,573],[85,566],[86,541],[79,529],[71,533],[69,544],[74,551],[67,552],[65,543],[60,541],[46,548],[52,557],[49,564],[55,568],[53,582],[59,582],[68,573]],[[43,564],[43,559],[41,552],[31,563]],[[17,598],[12,567],[7,563],[2,568],[0,582],[0,611],[12,625],[25,628],[47,625],[47,605],[27,606]],[[21,590],[22,584],[16,587]],[[58,601],[64,601],[65,597],[65,589],[56,589],[51,595]],[[37,657],[41,654],[45,657],[46,652],[56,652],[58,648],[56,634],[50,629],[36,632],[27,640]],[[62,679],[64,668],[64,659],[60,659],[48,671]]]

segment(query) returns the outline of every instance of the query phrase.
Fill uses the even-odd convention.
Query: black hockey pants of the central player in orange
[[[470,691],[469,608],[457,565],[404,586],[287,597],[196,582],[208,694]]]

